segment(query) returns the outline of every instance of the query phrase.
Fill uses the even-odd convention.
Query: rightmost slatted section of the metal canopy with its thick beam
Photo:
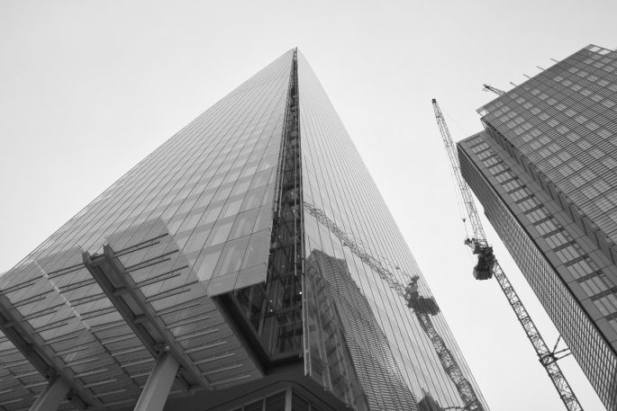
[[[99,264],[102,275],[94,277],[142,344],[154,356],[168,347],[185,389],[221,389],[263,376],[162,220],[109,237],[92,264]]]

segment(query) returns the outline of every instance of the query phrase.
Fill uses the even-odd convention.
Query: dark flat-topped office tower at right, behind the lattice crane
[[[478,110],[458,143],[485,214],[617,409],[617,52],[577,51]]]

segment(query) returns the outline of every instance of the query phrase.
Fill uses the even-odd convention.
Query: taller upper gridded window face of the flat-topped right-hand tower
[[[590,46],[480,109],[485,124],[574,201],[609,244],[617,240],[615,67],[617,52]]]

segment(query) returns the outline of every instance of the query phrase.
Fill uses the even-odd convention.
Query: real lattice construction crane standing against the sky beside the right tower
[[[519,323],[525,330],[527,338],[529,338],[531,345],[538,354],[540,363],[549,374],[549,378],[558,391],[559,398],[563,401],[568,411],[582,411],[583,407],[578,403],[574,392],[567,383],[566,377],[558,366],[557,361],[560,358],[565,357],[569,353],[565,353],[567,350],[557,351],[557,345],[553,350],[549,350],[549,347],[542,339],[538,328],[531,321],[531,317],[527,312],[527,309],[522,305],[521,299],[513,289],[512,284],[505,275],[501,265],[497,262],[495,255],[493,254],[493,248],[488,246],[485,237],[484,228],[482,228],[482,222],[480,221],[479,214],[476,210],[474,199],[471,195],[471,189],[467,185],[467,182],[463,179],[463,175],[460,173],[460,164],[458,163],[458,156],[454,142],[450,137],[448,126],[443,118],[443,113],[440,110],[440,106],[435,99],[432,99],[432,107],[435,112],[435,118],[440,128],[441,138],[443,144],[448,152],[449,162],[452,167],[455,180],[458,183],[458,190],[462,196],[463,203],[467,210],[467,217],[473,230],[473,236],[465,240],[465,244],[470,246],[474,255],[477,255],[477,264],[474,268],[474,277],[476,280],[487,280],[495,276],[495,279],[499,283],[499,286],[504,291],[505,298],[508,299],[510,306],[514,310]],[[561,336],[558,338],[558,343]],[[564,354],[565,353],[565,354]],[[561,354],[561,355],[559,355]]]

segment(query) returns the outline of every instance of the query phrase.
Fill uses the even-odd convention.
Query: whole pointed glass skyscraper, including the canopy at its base
[[[409,282],[413,309],[391,287]],[[488,409],[295,50],[113,183],[0,290],[9,411],[36,396],[46,410],[65,397],[60,409]]]

